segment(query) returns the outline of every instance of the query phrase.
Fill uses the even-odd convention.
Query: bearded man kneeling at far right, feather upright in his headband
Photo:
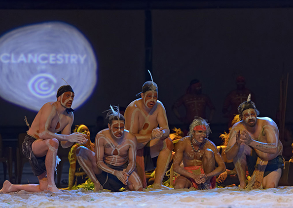
[[[226,156],[228,160],[233,159],[240,188],[246,187],[246,166],[252,175],[248,190],[261,185],[277,188],[284,166],[278,126],[268,117],[257,117],[259,112],[250,96],[239,105],[238,113],[242,121],[231,129]]]

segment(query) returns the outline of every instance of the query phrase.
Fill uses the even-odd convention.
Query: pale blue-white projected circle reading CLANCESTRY
[[[56,100],[66,85],[75,92],[73,108],[91,95],[97,61],[91,44],[73,26],[46,22],[15,29],[0,38],[0,96],[38,111]]]

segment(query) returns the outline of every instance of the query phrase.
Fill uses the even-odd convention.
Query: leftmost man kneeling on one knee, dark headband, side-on
[[[73,143],[86,141],[82,133],[72,133],[74,92],[70,85],[61,86],[57,91],[57,101],[44,104],[22,144],[22,152],[30,161],[32,170],[37,176],[38,184],[14,185],[9,181],[3,183],[2,192],[25,190],[39,192],[49,190],[60,192],[55,185],[54,173],[57,162],[59,141],[63,148],[68,148]],[[56,132],[61,131],[61,134]],[[59,160],[59,161],[58,161]]]

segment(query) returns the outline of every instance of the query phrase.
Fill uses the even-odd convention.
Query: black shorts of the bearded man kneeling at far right
[[[247,161],[248,172],[250,175],[252,175],[255,170],[255,165],[257,161],[257,154],[254,149],[253,149],[252,156],[246,156],[246,161]],[[264,170],[263,177],[267,176],[272,171],[279,168],[283,168],[283,167],[284,167],[283,157],[279,155],[273,160],[268,161],[267,166]]]

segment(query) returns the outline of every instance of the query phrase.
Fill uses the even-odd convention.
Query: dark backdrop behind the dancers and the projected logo
[[[292,71],[292,8],[151,9],[152,73],[170,127],[180,126],[171,107],[190,80],[203,83],[215,107],[214,125],[226,128],[221,113],[225,95],[243,75],[256,94],[260,116],[275,119],[280,78]],[[95,125],[109,104],[126,107],[149,80],[145,69],[144,9],[2,9],[0,34],[43,21],[62,21],[79,29],[98,60],[98,83],[87,103],[74,112],[75,124]],[[292,122],[292,84],[288,86],[287,117]],[[83,81],[81,81],[83,82]],[[86,81],[84,81],[86,82]],[[36,112],[0,99],[1,134],[26,128]],[[74,108],[74,102],[73,102]],[[217,135],[215,135],[217,137]]]

